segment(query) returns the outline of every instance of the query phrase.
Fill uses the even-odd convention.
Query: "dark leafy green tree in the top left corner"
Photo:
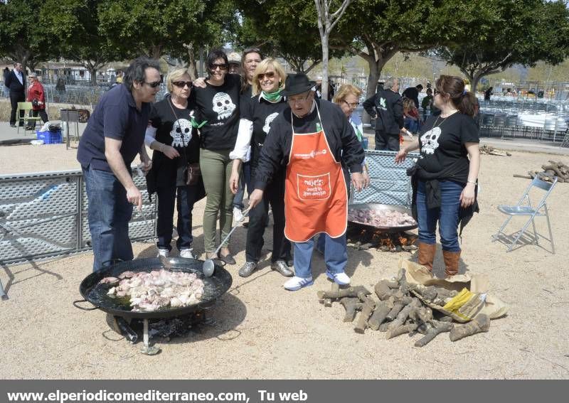
[[[0,2],[0,55],[34,70],[38,62],[53,57],[44,41],[43,26],[31,19],[43,8],[43,0]]]

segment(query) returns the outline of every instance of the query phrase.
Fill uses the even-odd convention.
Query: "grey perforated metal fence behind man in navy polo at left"
[[[146,181],[134,183],[149,200]],[[0,176],[0,264],[16,264],[90,249],[87,193],[81,171]],[[156,203],[129,223],[132,240],[156,231]]]

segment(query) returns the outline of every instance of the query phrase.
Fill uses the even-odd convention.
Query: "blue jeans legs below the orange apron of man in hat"
[[[346,235],[331,238],[328,235],[320,234],[324,238],[324,262],[326,269],[332,274],[343,273],[348,262],[348,251],[346,249]],[[307,242],[294,242],[294,275],[307,279],[312,276],[312,250],[314,249],[314,238]]]

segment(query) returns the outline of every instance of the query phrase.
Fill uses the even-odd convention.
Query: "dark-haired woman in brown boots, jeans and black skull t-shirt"
[[[460,77],[441,75],[435,83],[434,102],[440,116],[429,117],[418,141],[395,156],[405,160],[409,151],[420,150],[413,175],[413,216],[419,223],[419,264],[432,271],[437,251],[435,230],[439,223],[445,275],[458,273],[460,231],[478,212],[477,181],[480,168],[479,136],[474,123],[476,97],[464,90]]]

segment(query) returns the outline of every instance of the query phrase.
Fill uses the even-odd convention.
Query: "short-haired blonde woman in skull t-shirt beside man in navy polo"
[[[152,169],[147,175],[148,193],[158,196],[158,255],[169,257],[174,220],[174,202],[178,205],[178,240],[180,257],[192,259],[193,204],[203,198],[203,181],[186,184],[186,166],[199,162],[198,126],[193,117],[193,105],[188,102],[191,77],[188,70],[179,69],[166,78],[169,95],[156,102],[150,113],[150,124],[144,139],[154,153]]]

